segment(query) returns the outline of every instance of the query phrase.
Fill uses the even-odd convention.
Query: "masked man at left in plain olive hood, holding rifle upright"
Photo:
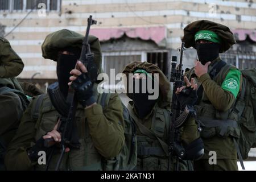
[[[99,96],[96,82],[86,92],[80,90],[81,85],[87,81],[84,80],[84,74],[87,72],[85,66],[80,61],[77,62],[83,39],[84,36],[76,32],[60,30],[49,34],[42,44],[43,57],[57,61],[61,96],[67,97],[68,86],[71,84],[68,85],[69,81],[72,81],[76,95],[79,95],[74,121],[76,130],[72,137],[78,137],[80,148],[65,148],[60,170],[104,169],[102,162],[108,163],[117,156],[124,143],[122,105],[117,94],[112,94],[108,105],[103,109],[101,105],[96,104]],[[94,63],[100,73],[100,42],[96,37],[89,36],[89,44],[94,53]],[[78,69],[73,69],[76,63]],[[42,98],[41,103],[38,102],[39,98]],[[37,103],[40,105],[35,106]],[[39,115],[35,118],[33,115],[36,107],[39,107]],[[49,148],[44,147],[45,139],[53,138],[56,143],[60,142],[61,134],[56,130],[60,117],[52,105],[49,94],[35,97],[24,112],[18,132],[7,149],[7,169],[46,169],[46,165],[38,164],[38,152],[46,151],[47,155],[51,155],[48,152]],[[60,156],[59,151],[56,145],[51,148],[53,153],[49,170],[55,168]]]

